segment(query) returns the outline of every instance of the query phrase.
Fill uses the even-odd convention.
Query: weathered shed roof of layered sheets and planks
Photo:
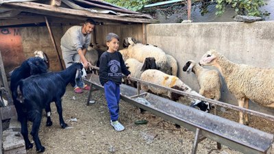
[[[58,0],[55,0],[58,1]],[[34,0],[0,0],[1,10],[10,9],[33,14],[59,16],[72,18],[77,16],[80,20],[84,18],[103,19],[105,21],[125,23],[155,23],[157,22],[149,14],[134,12],[125,8],[100,0],[59,0],[61,5],[49,5],[49,1]],[[8,16],[11,17],[11,14]],[[8,18],[0,16],[1,19]]]

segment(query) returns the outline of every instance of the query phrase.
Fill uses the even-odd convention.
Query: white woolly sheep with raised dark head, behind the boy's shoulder
[[[134,38],[125,38],[123,47],[127,47],[127,57],[132,57],[139,62],[145,62],[146,57],[155,57],[156,64],[164,73],[171,74],[166,53],[153,45],[138,43]]]

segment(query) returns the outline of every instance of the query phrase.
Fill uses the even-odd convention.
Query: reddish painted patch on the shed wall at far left
[[[0,28],[0,51],[3,58],[5,73],[20,66],[26,59],[23,53],[20,28]]]

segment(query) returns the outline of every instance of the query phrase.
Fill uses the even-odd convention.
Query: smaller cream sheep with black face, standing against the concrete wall
[[[217,70],[203,68],[193,60],[188,60],[183,71],[194,73],[200,86],[199,94],[218,101],[221,98],[221,79]]]

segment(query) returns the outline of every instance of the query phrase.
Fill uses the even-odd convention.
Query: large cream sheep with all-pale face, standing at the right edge
[[[215,66],[223,75],[227,88],[238,100],[239,107],[249,107],[249,99],[266,107],[274,107],[274,69],[236,64],[215,50],[201,57],[201,65]],[[244,119],[245,118],[245,119]],[[245,121],[244,121],[245,120]],[[248,115],[240,112],[239,123],[248,125]]]

